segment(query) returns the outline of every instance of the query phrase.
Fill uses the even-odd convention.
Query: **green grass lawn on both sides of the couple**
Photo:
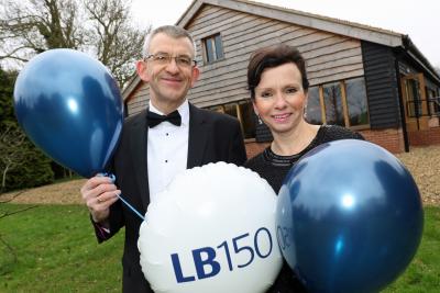
[[[426,207],[419,250],[384,292],[439,292],[439,227],[440,207]],[[0,292],[120,292],[122,236],[98,245],[80,205],[1,204]]]

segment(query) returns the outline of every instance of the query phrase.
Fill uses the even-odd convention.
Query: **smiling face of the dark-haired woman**
[[[253,105],[273,133],[286,133],[304,121],[306,100],[301,74],[288,63],[263,71]]]

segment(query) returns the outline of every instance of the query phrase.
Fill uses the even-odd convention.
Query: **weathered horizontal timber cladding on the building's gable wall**
[[[185,29],[196,41],[201,71],[188,99],[200,108],[249,99],[249,57],[272,44],[287,43],[301,52],[310,86],[364,75],[361,41],[348,36],[211,4],[204,4]],[[206,64],[202,41],[213,34],[221,36],[224,57]],[[147,84],[140,84],[128,102],[130,115],[142,111],[148,100]]]

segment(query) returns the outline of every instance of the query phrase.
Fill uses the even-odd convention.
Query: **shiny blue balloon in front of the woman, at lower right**
[[[283,256],[309,292],[378,292],[415,256],[424,211],[396,157],[345,139],[315,148],[293,167],[276,225]]]

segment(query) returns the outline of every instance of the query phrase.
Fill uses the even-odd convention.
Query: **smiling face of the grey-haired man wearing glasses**
[[[193,43],[187,37],[173,38],[158,33],[150,42],[148,55],[153,56],[138,63],[138,74],[150,84],[150,99],[162,111],[177,109],[199,76],[199,69],[193,63],[179,61],[194,59]]]

